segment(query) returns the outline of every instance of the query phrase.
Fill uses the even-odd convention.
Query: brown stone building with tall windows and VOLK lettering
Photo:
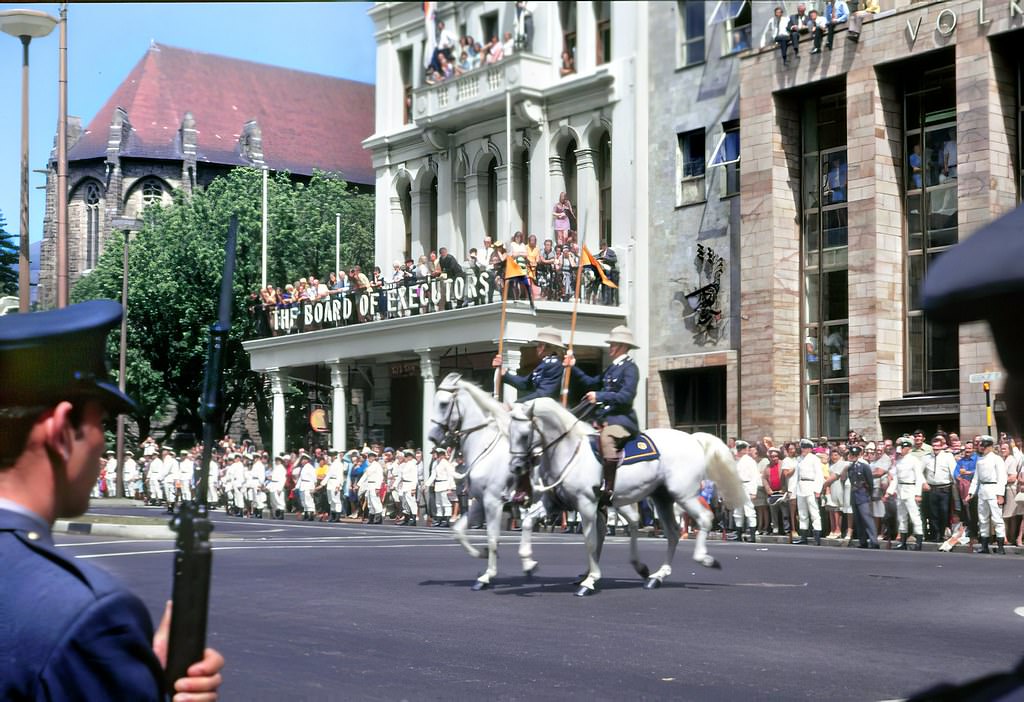
[[[987,328],[935,324],[918,296],[930,260],[1019,202],[1024,15],[883,6],[859,42],[740,59],[746,436],[986,429]],[[771,11],[755,3],[756,31]]]

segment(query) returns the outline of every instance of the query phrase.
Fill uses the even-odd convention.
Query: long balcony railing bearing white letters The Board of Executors
[[[618,291],[601,284],[593,273],[584,269],[581,303],[615,307]],[[616,276],[617,277],[617,276]],[[559,270],[539,272],[529,286],[509,286],[509,300],[519,305],[535,302],[571,303],[574,292],[574,269],[568,274]],[[367,324],[386,319],[443,313],[463,307],[501,302],[502,284],[490,271],[479,275],[466,273],[461,278],[432,276],[387,282],[370,290],[332,291],[317,300],[301,300],[276,305],[254,304],[250,308],[253,338],[280,337],[352,324]]]

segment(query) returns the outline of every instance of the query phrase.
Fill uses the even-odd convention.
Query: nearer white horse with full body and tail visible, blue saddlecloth
[[[516,405],[511,412],[509,442],[513,470],[523,470],[532,463],[535,455],[541,455],[532,480],[535,496],[543,497],[537,499],[523,518],[519,555],[524,561],[530,558],[529,532],[534,520],[562,509],[579,512],[590,566],[580,581],[577,590],[580,597],[592,595],[601,578],[598,560],[604,540],[604,520],[601,519],[603,513],[598,510],[598,489],[602,468],[590,447],[593,433],[585,422],[550,398]],[[699,530],[693,560],[708,568],[720,568],[708,554],[712,513],[699,498],[700,481],[705,477],[715,481],[727,506],[741,503],[745,494],[735,460],[718,437],[686,434],[674,429],[651,429],[646,434],[657,446],[660,456],[620,467],[612,508],[629,522],[630,562],[645,578],[644,587],[652,589],[659,587],[672,574],[672,559],[679,543],[674,506],[682,507],[697,523]],[[640,562],[637,552],[639,516],[634,503],[644,497],[657,510],[668,541],[665,563],[653,573]]]

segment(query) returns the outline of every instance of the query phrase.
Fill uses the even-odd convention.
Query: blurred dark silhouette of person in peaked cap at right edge
[[[971,234],[936,259],[925,279],[922,306],[934,321],[952,324],[985,319],[1007,369],[1004,397],[1011,422],[1024,428],[1024,208]],[[977,475],[977,474],[976,474]],[[978,625],[984,625],[978,622]],[[1019,700],[1024,698],[1024,660],[1012,670],[958,686],[927,690],[913,700]]]

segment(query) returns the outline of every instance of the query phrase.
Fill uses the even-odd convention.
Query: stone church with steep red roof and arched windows
[[[153,44],[86,128],[68,129],[69,284],[133,220],[171,193],[190,194],[239,166],[341,173],[372,191],[360,141],[373,86]],[[296,125],[301,124],[301,129]],[[342,128],[339,125],[344,125]],[[38,300],[56,295],[56,161],[46,179]]]

